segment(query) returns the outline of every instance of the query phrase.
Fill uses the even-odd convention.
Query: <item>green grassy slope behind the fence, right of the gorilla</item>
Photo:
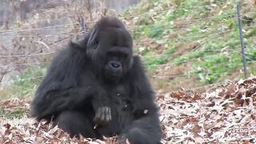
[[[133,18],[126,18],[126,21],[134,22],[133,27],[137,26],[132,30],[136,32],[134,35],[136,41],[150,38],[151,45],[137,46],[150,50],[150,53],[137,51],[144,58],[147,67],[154,66],[155,73],[152,73],[152,69],[148,69],[150,74],[158,74],[157,71],[162,69],[159,65],[162,64],[170,64],[170,74],[172,72],[175,74],[176,69],[183,66],[182,74],[193,78],[196,76],[195,81],[198,80],[198,82],[195,83],[206,85],[243,75],[241,74],[242,54],[236,11],[238,2],[229,0],[149,2],[144,0],[140,5],[127,10],[122,17],[135,15]],[[247,17],[256,18],[256,9],[249,9],[250,3],[240,4],[245,35],[246,64],[250,74],[256,74],[256,70],[251,70],[256,59],[254,40],[256,23],[246,21]],[[193,45],[197,42],[197,45]],[[184,77],[185,79],[187,77]],[[180,81],[182,78],[172,78],[172,82]]]

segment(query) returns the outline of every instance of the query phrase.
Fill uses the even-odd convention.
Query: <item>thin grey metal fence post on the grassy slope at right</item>
[[[245,74],[245,78],[247,77],[247,70],[246,70],[246,55],[245,55],[245,46],[243,42],[243,36],[242,36],[242,22],[241,22],[241,12],[240,12],[240,5],[237,5],[237,11],[238,11],[238,26],[239,26],[239,34],[240,34],[240,42],[241,42],[241,48],[242,48],[242,63],[243,63],[243,72]]]

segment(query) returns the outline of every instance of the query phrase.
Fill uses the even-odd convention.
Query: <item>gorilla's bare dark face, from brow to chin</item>
[[[111,81],[118,81],[132,65],[132,41],[126,30],[114,29],[102,31],[99,41],[105,57],[103,73]],[[102,55],[102,56],[104,56]]]

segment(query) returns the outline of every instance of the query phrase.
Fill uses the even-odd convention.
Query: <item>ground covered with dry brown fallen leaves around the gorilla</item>
[[[256,77],[229,82],[198,93],[179,91],[158,94],[162,122],[162,143],[170,142],[256,142]],[[29,102],[12,99],[0,102],[2,113],[28,115]],[[23,113],[24,114],[24,113]],[[35,122],[26,116],[0,118],[0,143],[116,143],[115,138],[104,141],[70,138],[46,122]],[[129,143],[129,140],[126,142]]]

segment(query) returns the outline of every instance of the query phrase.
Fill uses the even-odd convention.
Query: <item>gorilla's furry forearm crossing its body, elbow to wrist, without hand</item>
[[[62,110],[73,110],[81,106],[86,99],[98,95],[91,86],[70,88],[67,90],[50,90],[45,95],[32,102],[32,115],[38,120],[50,120],[54,114]]]

